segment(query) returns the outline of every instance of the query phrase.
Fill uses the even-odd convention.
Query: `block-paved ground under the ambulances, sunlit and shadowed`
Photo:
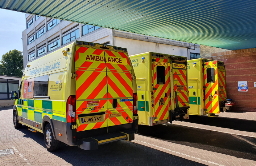
[[[118,141],[85,151],[63,145],[44,147],[43,134],[26,126],[14,129],[11,109],[0,109],[0,165],[256,165],[256,113],[221,113],[220,117],[190,116],[173,124],[139,126],[131,142]]]

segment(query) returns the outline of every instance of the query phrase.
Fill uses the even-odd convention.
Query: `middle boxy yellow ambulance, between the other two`
[[[137,81],[139,124],[188,118],[187,57],[146,52],[130,59]]]

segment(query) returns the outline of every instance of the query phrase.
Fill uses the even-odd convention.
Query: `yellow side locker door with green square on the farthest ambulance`
[[[188,91],[189,91],[189,114],[190,115],[200,115],[199,105],[200,98],[198,97],[198,93],[200,92],[197,89],[197,80],[188,80]]]

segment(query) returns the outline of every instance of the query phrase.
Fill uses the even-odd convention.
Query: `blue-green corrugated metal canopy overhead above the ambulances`
[[[0,0],[0,8],[225,49],[256,47],[255,0]]]

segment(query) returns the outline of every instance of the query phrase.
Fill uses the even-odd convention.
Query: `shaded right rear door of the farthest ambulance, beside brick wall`
[[[226,72],[225,65],[218,64],[218,87],[219,87],[219,100],[226,101]]]

